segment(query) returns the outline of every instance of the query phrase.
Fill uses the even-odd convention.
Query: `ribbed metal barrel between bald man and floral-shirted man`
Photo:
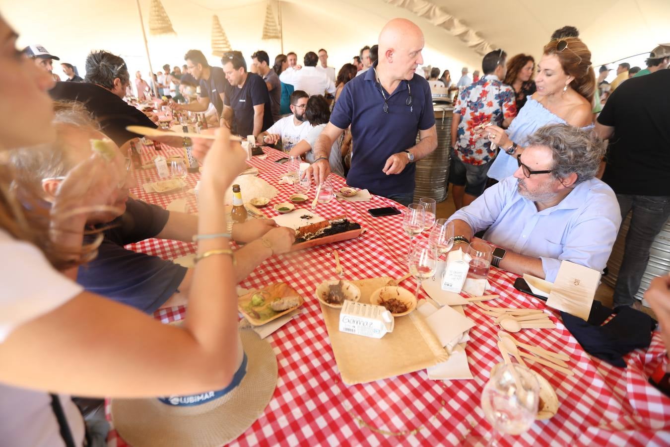
[[[435,105],[433,109],[435,127],[438,129],[438,147],[433,153],[416,163],[414,198],[430,197],[436,202],[442,202],[447,198],[454,107]],[[418,142],[419,135],[417,135]]]

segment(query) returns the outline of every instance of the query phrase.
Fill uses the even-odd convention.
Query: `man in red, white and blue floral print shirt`
[[[496,157],[490,141],[474,138],[488,123],[507,127],[517,115],[511,86],[503,84],[507,54],[492,51],[482,60],[484,77],[473,82],[456,97],[452,121],[452,164],[449,182],[456,209],[467,206],[484,192],[486,172]]]

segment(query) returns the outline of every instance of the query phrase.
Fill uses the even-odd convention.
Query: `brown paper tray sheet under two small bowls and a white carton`
[[[369,303],[375,290],[391,277],[351,281],[360,289],[360,302]],[[426,369],[446,361],[448,354],[417,312],[395,318],[393,332],[367,338],[340,332],[340,310],[320,303],[342,381],[368,383]]]

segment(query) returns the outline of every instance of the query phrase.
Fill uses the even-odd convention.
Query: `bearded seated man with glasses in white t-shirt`
[[[295,90],[291,93],[289,105],[290,117],[283,117],[274,123],[267,131],[261,132],[257,137],[259,143],[275,144],[281,139],[281,149],[290,151],[298,141],[305,139],[312,126],[305,119],[305,110],[310,95],[303,90]]]

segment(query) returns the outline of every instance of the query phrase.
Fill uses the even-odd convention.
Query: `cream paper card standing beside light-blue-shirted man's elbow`
[[[547,306],[588,320],[599,282],[599,271],[562,261]]]

